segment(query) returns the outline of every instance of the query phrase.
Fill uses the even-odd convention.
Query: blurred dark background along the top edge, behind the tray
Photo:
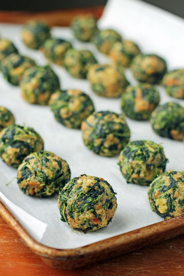
[[[142,0],[184,17],[184,0]],[[0,0],[1,10],[46,11],[105,5],[107,0]]]

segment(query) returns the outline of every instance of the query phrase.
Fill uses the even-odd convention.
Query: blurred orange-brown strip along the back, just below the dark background
[[[76,14],[92,13],[97,19],[100,18],[104,6],[88,8],[66,9],[48,12],[22,12],[0,10],[0,22],[23,24],[29,19],[45,20],[50,26],[69,26],[72,17]]]

